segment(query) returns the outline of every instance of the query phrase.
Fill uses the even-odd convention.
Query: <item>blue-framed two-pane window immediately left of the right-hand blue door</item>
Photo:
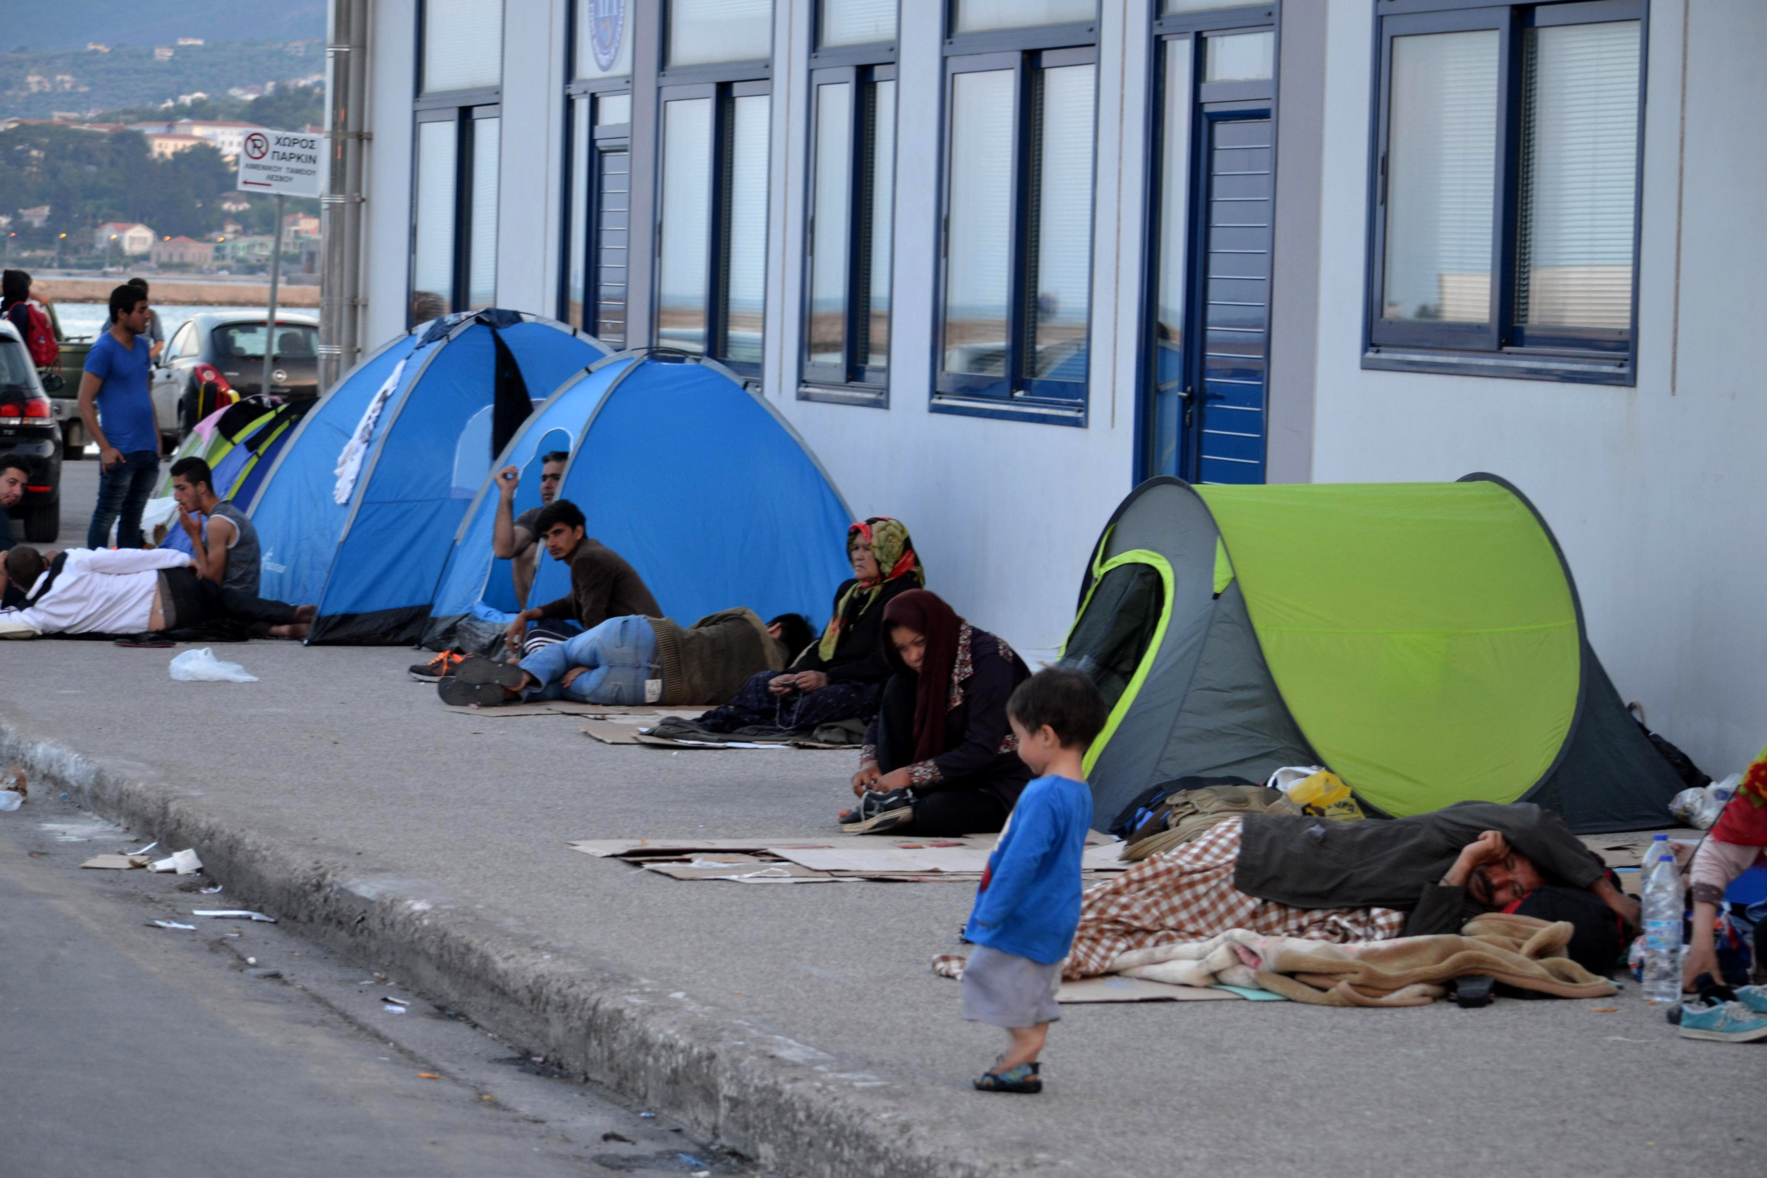
[[[1090,46],[947,60],[935,410],[1085,424],[1096,74]]]

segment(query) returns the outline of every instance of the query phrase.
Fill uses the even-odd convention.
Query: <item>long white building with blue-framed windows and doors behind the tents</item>
[[[1767,5],[369,11],[362,341],[716,355],[1037,653],[1138,479],[1497,472],[1654,728],[1767,738]]]

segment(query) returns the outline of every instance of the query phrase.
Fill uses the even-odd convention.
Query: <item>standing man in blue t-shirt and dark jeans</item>
[[[80,420],[99,443],[99,502],[87,526],[87,547],[106,547],[117,525],[117,547],[145,547],[141,509],[159,479],[159,419],[148,392],[152,344],[143,339],[154,318],[138,286],[110,297],[111,327],[87,353],[80,378]]]

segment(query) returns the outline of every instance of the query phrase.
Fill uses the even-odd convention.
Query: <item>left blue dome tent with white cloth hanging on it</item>
[[[603,355],[564,323],[491,309],[413,328],[360,364],[283,447],[253,505],[263,595],[318,604],[309,643],[417,641],[491,470],[498,390],[505,403],[511,390],[544,396]]]

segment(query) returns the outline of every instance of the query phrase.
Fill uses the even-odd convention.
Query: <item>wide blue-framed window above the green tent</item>
[[[1642,0],[1405,7],[1364,366],[1633,383]]]

